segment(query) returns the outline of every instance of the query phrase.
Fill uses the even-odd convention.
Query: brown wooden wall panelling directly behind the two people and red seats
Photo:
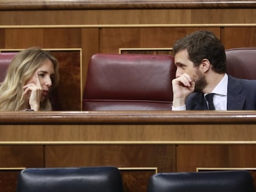
[[[161,25],[156,27],[2,27],[0,29],[0,49],[24,49],[30,46],[57,50],[80,49],[82,54],[81,76],[79,69],[70,67],[72,62],[77,61],[69,61],[65,58],[60,61],[62,77],[60,87],[66,90],[64,94],[63,91],[61,92],[63,110],[80,111],[81,94],[87,77],[88,63],[90,57],[95,53],[118,54],[121,48],[171,49],[176,40],[196,30],[213,31],[223,41],[226,49],[256,47],[255,29],[256,27],[222,27],[221,25],[216,27],[203,25],[201,27],[200,25],[197,27],[161,27]],[[126,52],[129,53],[129,51]],[[137,51],[137,53],[145,52]],[[71,76],[66,75],[67,71]]]

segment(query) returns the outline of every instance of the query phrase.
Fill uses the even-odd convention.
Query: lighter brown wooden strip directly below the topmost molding
[[[108,10],[0,10],[0,15],[0,25],[250,24],[255,23],[256,20],[255,7],[250,9],[147,9],[144,7],[144,9]]]

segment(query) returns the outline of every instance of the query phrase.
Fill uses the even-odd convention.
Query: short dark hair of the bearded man
[[[203,59],[208,59],[216,73],[226,72],[226,53],[221,41],[207,30],[195,31],[173,46],[174,56],[177,52],[187,49],[189,59],[195,66],[199,66]]]

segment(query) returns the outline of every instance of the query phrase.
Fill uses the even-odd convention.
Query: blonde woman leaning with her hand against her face
[[[48,94],[58,84],[58,67],[48,51],[20,51],[0,84],[0,111],[51,111]]]

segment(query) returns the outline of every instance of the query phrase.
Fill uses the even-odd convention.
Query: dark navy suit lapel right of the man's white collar
[[[242,110],[244,107],[245,96],[240,94],[242,85],[239,79],[228,76],[228,110]]]

